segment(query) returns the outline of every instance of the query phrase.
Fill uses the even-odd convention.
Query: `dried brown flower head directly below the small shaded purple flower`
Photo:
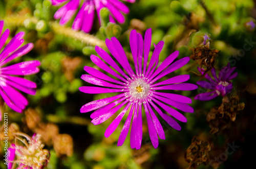
[[[210,133],[215,134],[218,131],[225,129],[230,122],[236,120],[239,111],[244,109],[244,103],[240,103],[238,95],[225,96],[222,99],[221,106],[211,108],[207,114],[207,122],[210,125]]]

